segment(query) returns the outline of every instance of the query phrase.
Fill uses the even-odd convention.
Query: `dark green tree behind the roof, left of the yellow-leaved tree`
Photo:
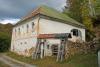
[[[67,6],[65,6],[64,13],[68,14],[71,18],[82,22],[81,18],[81,0],[67,0]]]

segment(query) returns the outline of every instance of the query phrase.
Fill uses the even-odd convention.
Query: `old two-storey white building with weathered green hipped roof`
[[[60,36],[67,36],[68,40],[74,42],[85,41],[85,27],[53,8],[41,6],[15,24],[12,31],[11,51],[30,56],[35,51],[40,37],[46,41],[46,45],[40,48],[45,48],[44,54],[51,56],[55,54],[53,51],[60,44]]]

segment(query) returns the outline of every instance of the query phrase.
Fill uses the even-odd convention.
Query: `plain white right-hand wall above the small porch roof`
[[[52,33],[71,33],[72,29],[78,29],[82,33],[82,40],[85,41],[85,29],[75,27],[72,25],[64,24],[61,22],[40,19],[40,33],[41,34],[52,34]],[[75,39],[75,37],[73,37]]]

